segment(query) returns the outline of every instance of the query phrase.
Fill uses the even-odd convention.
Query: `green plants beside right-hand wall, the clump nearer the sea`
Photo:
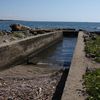
[[[95,39],[90,38],[86,41],[85,51],[96,62],[100,62],[100,36],[97,35]]]

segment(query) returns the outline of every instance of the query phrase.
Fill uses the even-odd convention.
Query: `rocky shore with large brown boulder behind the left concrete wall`
[[[27,38],[29,36],[35,36],[39,34],[45,34],[47,32],[52,32],[53,30],[47,29],[32,29],[30,27],[20,25],[20,24],[12,24],[10,25],[11,31],[0,31],[0,44],[9,43],[15,40]]]

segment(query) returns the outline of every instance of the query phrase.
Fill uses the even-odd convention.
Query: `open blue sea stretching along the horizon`
[[[11,24],[22,24],[29,26],[33,29],[53,29],[53,28],[68,28],[68,29],[83,29],[87,31],[100,31],[100,23],[96,22],[47,22],[47,21],[18,21],[18,20],[5,20],[0,21],[0,30],[11,30]]]

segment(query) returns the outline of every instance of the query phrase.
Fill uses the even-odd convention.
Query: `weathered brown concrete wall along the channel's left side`
[[[29,55],[35,55],[62,36],[62,31],[56,31],[0,45],[0,69],[27,60]]]

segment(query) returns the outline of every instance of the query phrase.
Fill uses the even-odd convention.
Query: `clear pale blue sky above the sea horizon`
[[[100,22],[100,0],[0,0],[0,19]]]

